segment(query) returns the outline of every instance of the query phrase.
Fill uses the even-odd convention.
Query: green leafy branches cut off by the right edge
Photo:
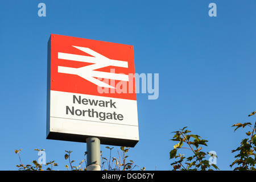
[[[249,114],[248,116],[250,117],[251,115],[255,115],[256,111],[253,113]],[[249,138],[242,139],[241,145],[236,148],[236,150],[232,150],[232,152],[239,152],[235,156],[237,158],[234,160],[234,162],[230,165],[230,167],[233,167],[234,165],[238,166],[234,168],[234,171],[255,171],[256,168],[254,167],[256,164],[256,134],[255,134],[255,127],[256,127],[256,122],[254,124],[254,127],[251,127],[250,122],[246,123],[237,123],[233,125],[232,127],[236,127],[234,131],[236,131],[239,128],[245,128],[249,127],[251,130],[246,133],[246,135]]]

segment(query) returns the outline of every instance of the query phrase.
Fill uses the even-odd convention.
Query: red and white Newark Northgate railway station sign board
[[[47,139],[134,147],[133,46],[51,34],[47,59]]]

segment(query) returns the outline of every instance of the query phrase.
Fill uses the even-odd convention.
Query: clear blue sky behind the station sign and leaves
[[[38,16],[40,2],[46,17]],[[208,15],[211,2],[216,17]],[[46,139],[47,41],[60,34],[133,45],[135,72],[159,73],[157,100],[137,94],[135,164],[172,169],[171,132],[188,126],[209,140],[204,151],[216,151],[218,168],[232,170],[231,151],[247,129],[231,126],[255,121],[247,117],[256,110],[255,7],[254,0],[1,1],[0,169],[18,170],[21,148],[23,164],[37,160],[39,148],[55,169],[65,170],[65,150],[76,166],[84,157],[85,143]]]

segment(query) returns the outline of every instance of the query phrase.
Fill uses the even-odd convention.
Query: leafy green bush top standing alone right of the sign
[[[199,135],[193,135],[189,134],[191,131],[184,130],[187,127],[184,127],[183,129],[180,129],[179,131],[174,131],[172,133],[175,133],[174,137],[171,139],[173,141],[177,141],[179,143],[175,144],[174,149],[170,151],[170,159],[179,159],[174,163],[171,163],[171,166],[173,166],[173,171],[176,171],[177,169],[187,171],[187,170],[202,170],[206,171],[212,170],[210,169],[210,165],[212,165],[215,169],[218,169],[218,167],[215,164],[210,164],[209,160],[205,159],[205,156],[208,154],[212,156],[213,158],[217,156],[213,154],[207,154],[202,150],[201,146],[207,146],[208,140],[201,139]],[[183,144],[186,144],[188,147],[183,147]],[[199,147],[200,146],[200,147]],[[192,156],[189,156],[187,159],[184,155],[177,154],[177,151],[181,148],[185,148],[192,151]]]

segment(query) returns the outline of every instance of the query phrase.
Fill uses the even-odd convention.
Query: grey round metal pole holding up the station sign
[[[100,139],[86,138],[87,146],[87,171],[101,171]]]

